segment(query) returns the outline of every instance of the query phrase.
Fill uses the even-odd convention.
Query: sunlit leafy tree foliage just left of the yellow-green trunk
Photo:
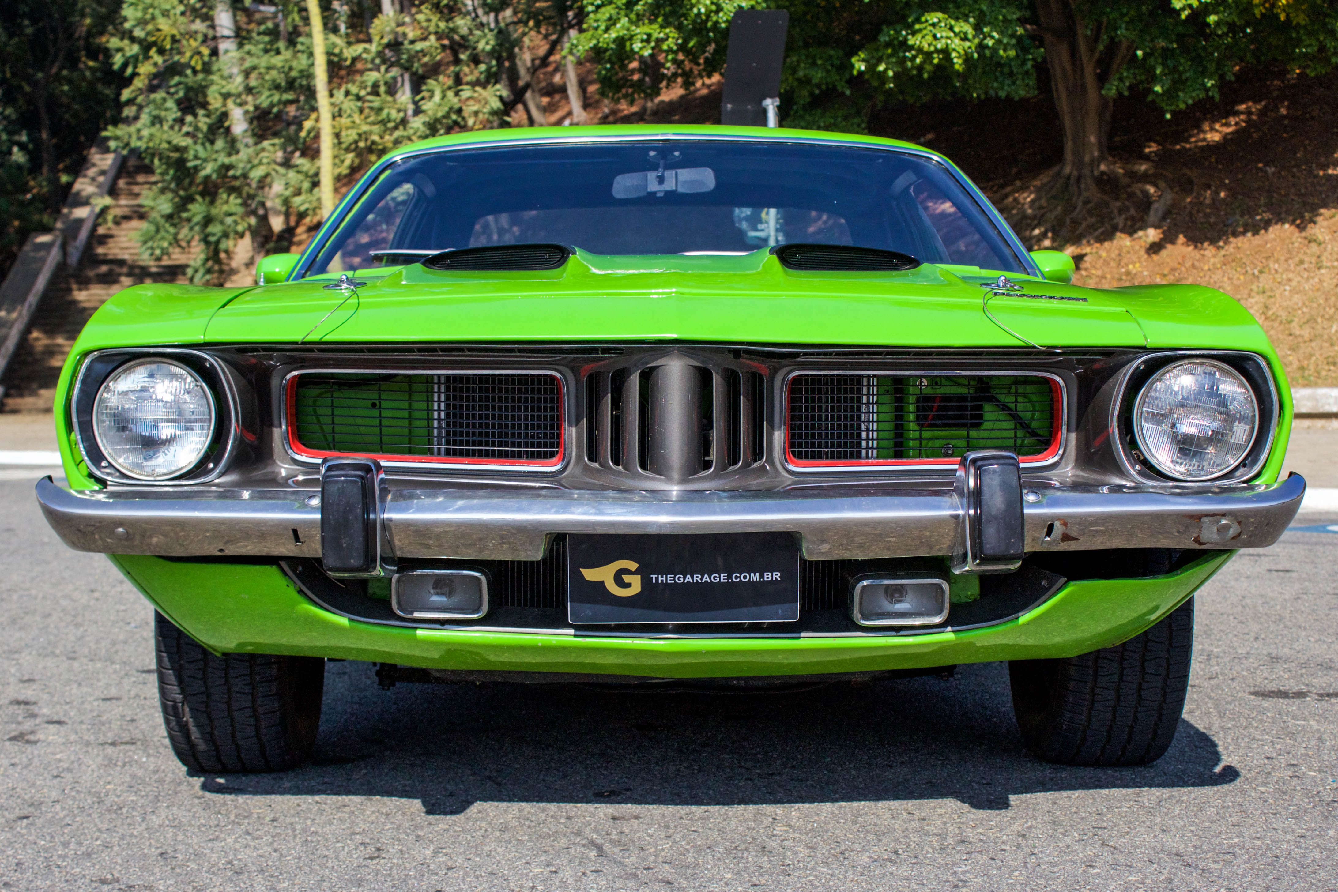
[[[138,148],[158,177],[138,237],[155,258],[194,243],[191,281],[221,275],[242,235],[268,242],[269,203],[282,213],[306,189],[293,174],[312,104],[309,45],[252,23],[225,64],[213,13],[213,0],[127,0],[112,40],[131,83],[111,142]]]

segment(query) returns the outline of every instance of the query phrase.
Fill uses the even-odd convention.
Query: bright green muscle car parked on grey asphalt
[[[407,146],[252,288],[140,285],[37,499],[154,604],[189,768],[395,682],[749,689],[1008,661],[1026,748],[1169,746],[1291,400],[1234,300],[1098,290],[943,156],[752,127]]]

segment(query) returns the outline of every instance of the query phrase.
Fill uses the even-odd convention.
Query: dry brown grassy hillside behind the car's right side
[[[899,123],[875,119],[872,130],[943,151],[999,201],[1058,162],[1048,103],[927,107]],[[1222,289],[1268,332],[1293,386],[1338,385],[1335,110],[1338,76],[1234,83],[1220,102],[1171,116],[1117,103],[1112,152],[1160,187],[1131,207],[1121,231],[1064,246],[1077,281]],[[1147,210],[1164,190],[1164,215],[1148,226]]]

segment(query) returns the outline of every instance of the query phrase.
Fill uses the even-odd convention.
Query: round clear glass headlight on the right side
[[[1167,476],[1212,480],[1244,460],[1259,428],[1246,380],[1214,360],[1173,362],[1152,376],[1133,407],[1143,457]]]

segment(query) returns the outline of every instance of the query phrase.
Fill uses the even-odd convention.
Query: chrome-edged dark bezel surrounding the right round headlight
[[[1258,411],[1254,441],[1246,449],[1244,457],[1227,471],[1195,480],[1173,476],[1159,468],[1143,453],[1137,436],[1136,409],[1147,385],[1155,376],[1172,365],[1184,361],[1210,362],[1226,366],[1239,374],[1254,395]],[[1165,350],[1148,353],[1121,374],[1119,393],[1113,403],[1115,417],[1112,428],[1119,436],[1112,437],[1120,467],[1141,483],[1173,483],[1189,487],[1211,487],[1243,483],[1256,476],[1268,460],[1276,436],[1280,417],[1280,400],[1268,361],[1256,353],[1239,350]]]

